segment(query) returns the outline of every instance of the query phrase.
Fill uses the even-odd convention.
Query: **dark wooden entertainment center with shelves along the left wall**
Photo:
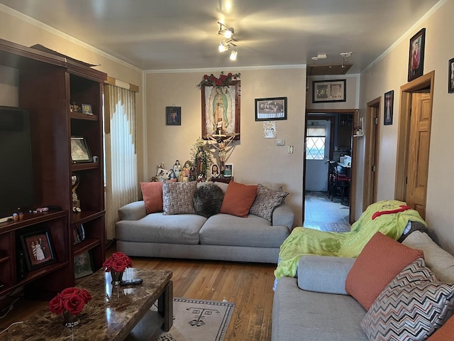
[[[74,256],[89,251],[93,271],[104,262],[102,89],[107,75],[58,53],[2,39],[0,65],[18,70],[18,106],[30,116],[35,184],[31,212],[23,212],[20,220],[0,223],[0,296],[22,286],[29,296],[50,296],[74,286]],[[70,110],[74,102],[90,104],[92,114]],[[72,136],[84,137],[90,160],[72,162]],[[13,161],[2,161],[8,162]],[[80,212],[73,211],[74,173],[79,178]],[[33,212],[38,207],[53,208]],[[85,235],[74,244],[73,231],[80,224]],[[19,276],[24,264],[18,264],[18,254],[23,251],[27,256],[23,236],[41,232],[50,238],[53,257],[43,264],[28,264],[26,274]]]

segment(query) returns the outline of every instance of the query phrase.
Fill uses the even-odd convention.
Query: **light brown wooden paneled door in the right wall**
[[[426,215],[431,107],[431,94],[412,94],[406,204],[417,210],[423,218]]]

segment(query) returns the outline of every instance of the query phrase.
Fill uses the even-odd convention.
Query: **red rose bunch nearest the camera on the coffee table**
[[[77,315],[89,301],[92,301],[92,295],[87,290],[66,288],[50,300],[49,310],[57,315],[62,314],[65,310],[71,315]]]

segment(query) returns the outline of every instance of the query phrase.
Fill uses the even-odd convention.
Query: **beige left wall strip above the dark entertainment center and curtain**
[[[142,107],[142,70],[128,65],[121,60],[111,57],[106,53],[75,40],[38,21],[22,16],[11,11],[6,6],[0,5],[0,38],[25,46],[35,44],[44,45],[46,48],[58,53],[68,55],[85,63],[99,65],[94,68],[107,75],[133,85],[140,86],[136,94],[137,131],[138,136],[138,169],[139,177],[143,177],[143,107]],[[17,106],[17,70],[0,66],[0,105]]]

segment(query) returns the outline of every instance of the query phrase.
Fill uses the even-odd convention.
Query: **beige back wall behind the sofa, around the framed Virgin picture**
[[[234,178],[240,183],[283,183],[289,192],[287,203],[294,209],[295,224],[302,222],[302,169],[304,155],[305,68],[270,70],[223,70],[241,73],[241,139],[226,163],[233,163]],[[201,90],[196,85],[205,73],[146,73],[148,131],[148,180],[158,163],[170,168],[190,158],[190,151],[201,136]],[[292,80],[290,82],[289,80]],[[276,121],[277,139],[263,138],[263,123],[255,121],[255,98],[287,97],[287,120]],[[165,125],[165,107],[182,107],[182,125]],[[288,153],[294,146],[294,153]]]

